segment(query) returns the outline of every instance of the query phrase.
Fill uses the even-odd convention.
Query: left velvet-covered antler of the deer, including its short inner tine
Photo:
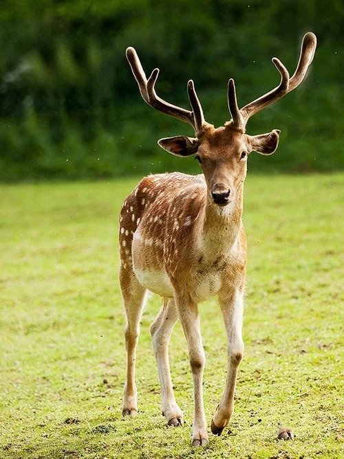
[[[191,112],[190,110],[185,110],[184,108],[177,107],[176,105],[172,105],[171,103],[164,101],[156,94],[154,85],[158,79],[158,68],[155,68],[153,72],[151,72],[151,76],[149,76],[149,79],[147,80],[147,76],[144,73],[140,59],[138,59],[136,50],[129,47],[127,48],[126,54],[131,70],[133,72],[133,76],[135,76],[135,79],[138,82],[138,88],[140,89],[142,99],[147,102],[148,105],[151,105],[151,107],[155,108],[155,110],[169,114],[174,118],[191,124],[196,134],[202,130],[202,126],[204,125],[204,116],[202,106],[195,92],[193,81],[190,80],[187,86],[189,101],[191,103],[191,108],[193,109]]]

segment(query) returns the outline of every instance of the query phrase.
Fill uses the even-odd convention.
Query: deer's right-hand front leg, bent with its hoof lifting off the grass
[[[244,354],[242,340],[243,292],[236,289],[227,295],[219,295],[219,304],[227,334],[228,368],[224,394],[211,421],[211,431],[220,436],[233,414],[234,391],[237,371]]]

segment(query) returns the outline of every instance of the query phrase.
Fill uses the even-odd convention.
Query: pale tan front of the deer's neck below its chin
[[[206,200],[202,225],[201,247],[208,261],[226,256],[237,242],[242,225],[244,190],[241,185],[235,201],[219,207],[209,197]]]

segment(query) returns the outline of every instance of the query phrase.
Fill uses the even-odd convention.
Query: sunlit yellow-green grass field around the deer
[[[248,176],[246,351],[222,437],[191,447],[192,382],[171,340],[186,426],[165,427],[149,324],[138,347],[139,415],[121,420],[125,351],[117,221],[136,181],[1,185],[0,458],[339,458],[343,414],[344,176]],[[341,277],[342,276],[342,277]],[[200,307],[206,416],[224,387],[215,299]],[[342,375],[343,376],[343,375]],[[276,440],[279,425],[293,441]]]

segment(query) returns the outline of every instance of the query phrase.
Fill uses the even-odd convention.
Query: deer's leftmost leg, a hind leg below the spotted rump
[[[127,351],[127,379],[123,394],[122,416],[138,413],[135,383],[136,345],[140,334],[140,318],[144,307],[146,289],[140,285],[131,269],[120,269],[120,286],[127,315],[125,349]]]

